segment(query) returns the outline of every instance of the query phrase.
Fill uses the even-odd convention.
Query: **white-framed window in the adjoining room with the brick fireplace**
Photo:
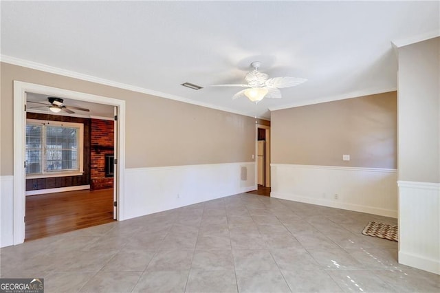
[[[57,177],[83,174],[83,124],[28,119],[26,175]]]

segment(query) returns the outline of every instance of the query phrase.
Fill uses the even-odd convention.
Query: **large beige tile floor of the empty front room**
[[[45,292],[440,292],[361,234],[396,219],[240,194],[0,250],[1,277]]]

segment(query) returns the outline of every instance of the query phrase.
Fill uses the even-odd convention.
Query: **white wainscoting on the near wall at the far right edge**
[[[440,274],[440,184],[397,183],[399,263]]]

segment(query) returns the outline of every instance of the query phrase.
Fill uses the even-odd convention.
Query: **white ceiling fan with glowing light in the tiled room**
[[[245,80],[248,84],[241,85],[211,85],[211,87],[248,87],[243,89],[232,96],[232,99],[241,98],[247,96],[252,102],[259,102],[263,98],[281,98],[281,91],[283,87],[294,87],[305,83],[307,79],[298,77],[274,77],[269,76],[263,72],[259,72],[261,62],[254,61],[250,64],[254,70],[248,72],[245,76]]]

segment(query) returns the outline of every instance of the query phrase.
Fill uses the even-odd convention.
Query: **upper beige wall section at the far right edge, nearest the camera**
[[[399,48],[399,180],[440,182],[440,38]]]

